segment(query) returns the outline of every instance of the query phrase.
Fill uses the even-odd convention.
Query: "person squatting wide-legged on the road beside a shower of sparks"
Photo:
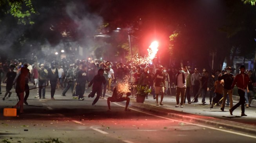
[[[109,111],[111,111],[110,102],[122,102],[122,101],[126,101],[125,111],[131,111],[131,109],[128,108],[128,105],[130,103],[129,96],[131,95],[131,93],[130,92],[126,93],[125,97],[122,97],[123,95],[124,93],[118,93],[117,87],[114,87],[112,97],[107,98],[107,106],[109,107]]]

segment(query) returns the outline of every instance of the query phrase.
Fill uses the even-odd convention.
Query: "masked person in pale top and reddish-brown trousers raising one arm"
[[[185,70],[185,71],[184,71]],[[184,68],[179,68],[179,72],[176,74],[176,103],[175,107],[183,107],[185,91],[186,91],[186,79],[189,76],[189,71],[187,66]],[[180,100],[181,95],[181,100]]]

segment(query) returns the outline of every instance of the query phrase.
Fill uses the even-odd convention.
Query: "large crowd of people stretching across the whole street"
[[[230,107],[230,113],[241,105],[242,116],[244,107],[250,107],[250,103],[254,96],[255,80],[252,78],[252,71],[245,71],[245,67],[240,67],[240,74],[234,76],[232,68],[227,67],[225,71],[214,70],[211,72],[203,69],[199,73],[198,68],[181,67],[181,68],[165,68],[161,65],[137,65],[123,63],[111,63],[110,61],[69,61],[51,63],[33,64],[21,63],[18,61],[5,62],[0,65],[0,72],[6,83],[6,93],[3,98],[11,96],[11,88],[15,85],[15,91],[19,97],[19,102],[14,106],[20,107],[23,112],[23,104],[28,105],[27,98],[29,96],[28,83],[32,82],[34,88],[38,88],[39,98],[45,97],[45,87],[51,86],[51,100],[54,100],[56,89],[62,89],[62,96],[66,96],[70,89],[74,99],[84,100],[85,89],[92,86],[92,92],[88,97],[96,98],[92,105],[95,105],[99,98],[105,98],[105,94],[113,93],[113,97],[107,100],[109,105],[111,102],[119,102],[126,100],[129,104],[128,96],[136,98],[136,87],[147,86],[151,89],[153,99],[156,99],[156,105],[163,105],[164,95],[171,94],[176,89],[176,106],[183,107],[183,104],[191,104],[198,102],[198,97],[202,97],[202,104],[206,104],[205,97],[209,94],[209,105],[221,105],[224,111],[226,100],[227,106]],[[121,82],[124,77],[129,77],[131,85],[130,92],[124,93],[128,95],[125,98],[117,99],[116,84]],[[240,102],[233,106],[232,89],[238,87]],[[1,89],[0,89],[1,92]],[[24,96],[25,92],[25,96]],[[7,96],[8,95],[8,96]],[[160,102],[158,104],[158,96]],[[191,101],[192,95],[192,101]],[[149,98],[147,95],[146,98]],[[246,103],[246,105],[244,105]],[[128,105],[127,105],[128,106]],[[110,109],[110,106],[109,106]],[[127,107],[125,111],[129,111]]]

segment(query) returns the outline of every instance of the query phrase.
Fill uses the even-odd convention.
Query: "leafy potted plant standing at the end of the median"
[[[143,103],[145,101],[146,96],[151,92],[148,86],[137,86],[137,97],[136,102]]]

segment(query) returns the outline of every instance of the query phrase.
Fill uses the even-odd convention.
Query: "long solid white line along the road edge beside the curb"
[[[114,103],[114,104],[119,105],[121,107],[125,107],[125,106],[117,104],[117,103]],[[140,113],[144,113],[144,114],[147,114],[147,115],[155,116],[155,117],[158,117],[158,118],[166,119],[166,120],[171,120],[171,121],[180,122],[180,123],[187,123],[189,125],[196,125],[198,127],[204,127],[204,128],[208,128],[208,129],[219,130],[219,131],[222,131],[222,132],[228,132],[228,133],[231,133],[231,134],[236,134],[236,135],[246,136],[246,137],[249,137],[249,138],[255,138],[256,139],[256,136],[251,136],[251,135],[248,135],[248,134],[233,132],[233,131],[230,131],[230,130],[218,129],[218,128],[209,127],[209,126],[206,126],[206,125],[200,125],[200,124],[196,124],[196,123],[189,123],[189,122],[184,122],[184,121],[180,121],[180,120],[175,120],[175,119],[171,119],[171,118],[167,118],[167,117],[163,117],[163,116],[154,115],[154,114],[151,114],[151,113],[146,113],[146,112],[139,111],[139,110],[132,109],[132,108],[129,108],[129,109],[131,109],[133,111],[140,112]]]

